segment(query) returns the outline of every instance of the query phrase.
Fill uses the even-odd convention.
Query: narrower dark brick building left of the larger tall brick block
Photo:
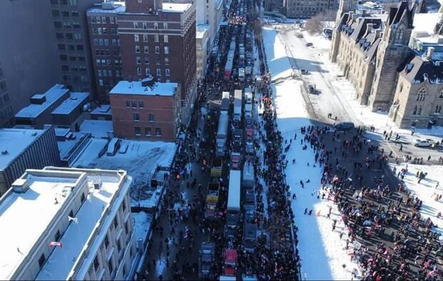
[[[109,103],[109,91],[122,78],[117,14],[124,13],[124,2],[103,2],[86,12],[89,44],[94,68],[97,100]]]

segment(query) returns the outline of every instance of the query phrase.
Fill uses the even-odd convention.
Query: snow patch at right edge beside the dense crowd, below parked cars
[[[399,170],[406,167],[406,164],[392,164],[391,168],[394,167],[397,167],[398,173]],[[443,213],[443,199],[435,200],[436,195],[443,194],[443,166],[407,164],[407,170],[407,173],[404,175],[406,190],[411,190],[414,197],[418,197],[423,201],[420,215],[422,215],[424,220],[430,218],[434,225],[438,226],[434,230],[442,235],[440,240],[443,240],[443,217],[437,218],[439,212]],[[427,173],[426,178],[420,183],[418,183],[418,178],[416,177],[417,171]],[[437,183],[439,183],[438,188],[436,188]]]

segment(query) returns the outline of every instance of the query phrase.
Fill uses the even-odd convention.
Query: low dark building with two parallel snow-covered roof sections
[[[77,118],[89,100],[89,93],[71,92],[64,85],[56,84],[45,93],[36,93],[31,104],[16,113],[16,123],[43,128],[45,124],[77,128]]]

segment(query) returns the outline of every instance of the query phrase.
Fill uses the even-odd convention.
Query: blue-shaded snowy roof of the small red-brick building
[[[155,83],[153,88],[141,86],[141,81],[120,81],[109,92],[114,95],[174,96],[177,83]]]

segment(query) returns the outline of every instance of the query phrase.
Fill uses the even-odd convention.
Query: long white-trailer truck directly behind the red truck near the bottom
[[[231,170],[229,172],[229,189],[228,189],[228,205],[227,205],[227,225],[235,228],[240,217],[240,195],[242,171]]]

